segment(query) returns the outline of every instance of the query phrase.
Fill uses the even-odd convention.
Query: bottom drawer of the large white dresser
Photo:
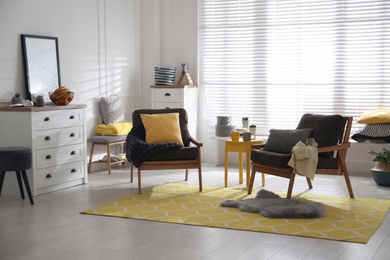
[[[84,162],[76,162],[35,171],[37,188],[41,189],[84,178],[84,168]]]

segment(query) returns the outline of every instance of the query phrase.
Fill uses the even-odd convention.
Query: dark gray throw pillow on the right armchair
[[[305,143],[312,131],[313,129],[311,128],[295,130],[271,129],[264,150],[288,154],[299,141]]]

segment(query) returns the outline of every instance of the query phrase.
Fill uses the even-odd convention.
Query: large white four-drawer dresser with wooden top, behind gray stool
[[[32,149],[27,175],[33,196],[88,181],[85,107],[0,107],[0,145]],[[18,192],[15,174],[6,174],[2,193]]]

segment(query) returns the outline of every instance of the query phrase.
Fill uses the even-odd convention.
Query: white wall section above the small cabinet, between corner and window
[[[141,1],[141,57],[143,104],[150,106],[150,85],[154,67],[189,64],[191,77],[197,78],[197,0]]]

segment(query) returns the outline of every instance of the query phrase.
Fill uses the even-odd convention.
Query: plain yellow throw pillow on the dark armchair
[[[179,113],[141,114],[141,120],[145,127],[147,143],[176,142],[183,145]]]

